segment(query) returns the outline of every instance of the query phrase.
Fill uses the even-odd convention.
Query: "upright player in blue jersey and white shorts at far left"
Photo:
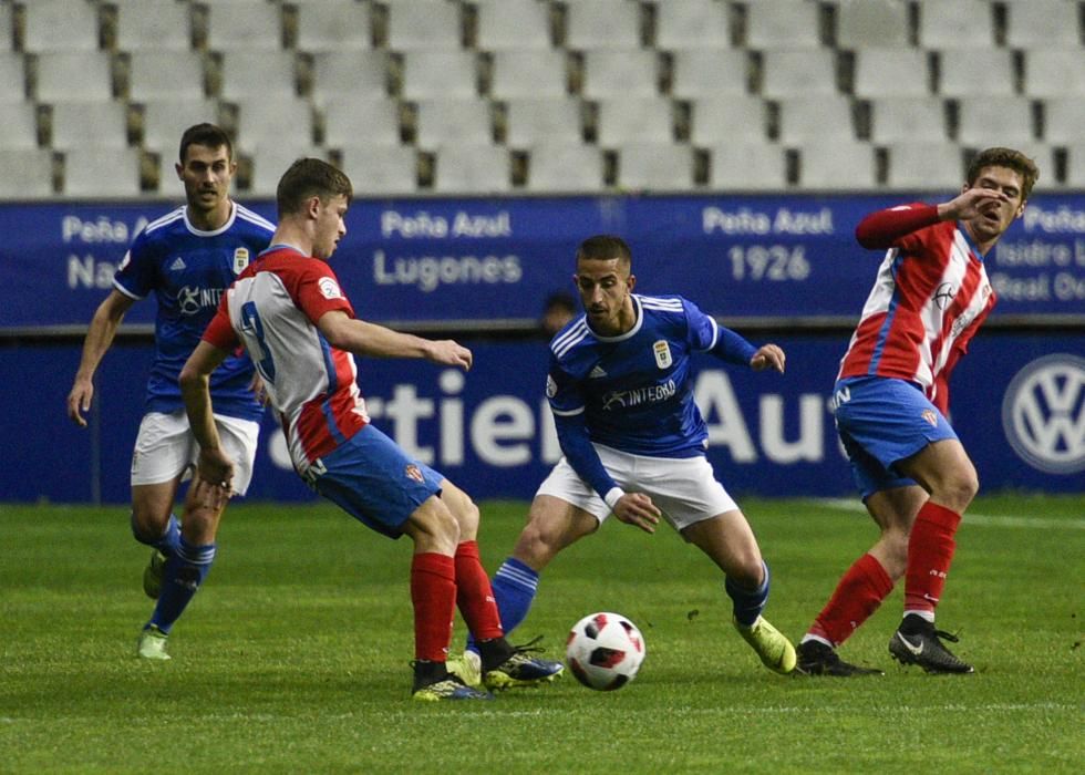
[[[230,199],[237,169],[229,136],[211,124],[189,127],[180,140],[177,177],[187,204],[152,221],[133,240],[99,306],[68,415],[81,427],[94,396],[94,372],[125,312],[152,292],[158,301],[155,353],[147,381],[146,413],[132,455],[132,533],[154,547],[143,588],[157,599],[136,652],[166,660],[166,638],[215,559],[215,535],[225,503],[208,506],[189,492],[183,518],[173,514],[178,487],[190,475],[198,448],[188,426],[178,374],[214,317],[223,292],[267,248],[275,226]],[[211,383],[215,422],[223,444],[238,462],[234,490],[244,495],[252,476],[264,407],[247,355],[232,355]]]

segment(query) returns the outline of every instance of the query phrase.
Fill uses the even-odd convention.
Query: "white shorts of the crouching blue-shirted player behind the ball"
[[[712,464],[698,457],[645,457],[592,444],[603,467],[627,493],[644,493],[675,530],[738,508],[716,482]],[[562,457],[536,495],[550,495],[582,508],[602,523],[610,507]]]

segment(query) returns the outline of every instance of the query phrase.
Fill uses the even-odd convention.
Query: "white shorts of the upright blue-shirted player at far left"
[[[215,415],[223,451],[234,461],[234,492],[245,495],[252,480],[252,463],[260,423]],[[162,484],[178,476],[190,479],[199,455],[199,445],[188,426],[184,410],[163,414],[149,412],[140,423],[132,453],[132,484]]]

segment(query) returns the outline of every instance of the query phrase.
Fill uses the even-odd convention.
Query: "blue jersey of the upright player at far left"
[[[152,292],[158,300],[155,354],[147,381],[147,411],[184,409],[180,369],[199,343],[218,301],[249,260],[268,247],[275,226],[234,204],[229,220],[200,231],[185,207],[153,220],[132,241],[113,277],[113,286],[132,299]],[[254,368],[248,355],[232,354],[210,381],[215,412],[257,420],[262,407],[249,390]]]

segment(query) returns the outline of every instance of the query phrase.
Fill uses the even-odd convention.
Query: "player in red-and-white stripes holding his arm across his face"
[[[932,673],[970,673],[934,629],[954,535],[979,489],[950,426],[949,376],[995,303],[984,257],[1020,218],[1038,172],[1010,148],[969,165],[953,199],[868,215],[865,248],[887,249],[834,389],[837,431],[881,537],[844,575],[798,648],[809,674],[880,673],[840,660],[839,647],[901,577],[905,616],[890,654]]]

